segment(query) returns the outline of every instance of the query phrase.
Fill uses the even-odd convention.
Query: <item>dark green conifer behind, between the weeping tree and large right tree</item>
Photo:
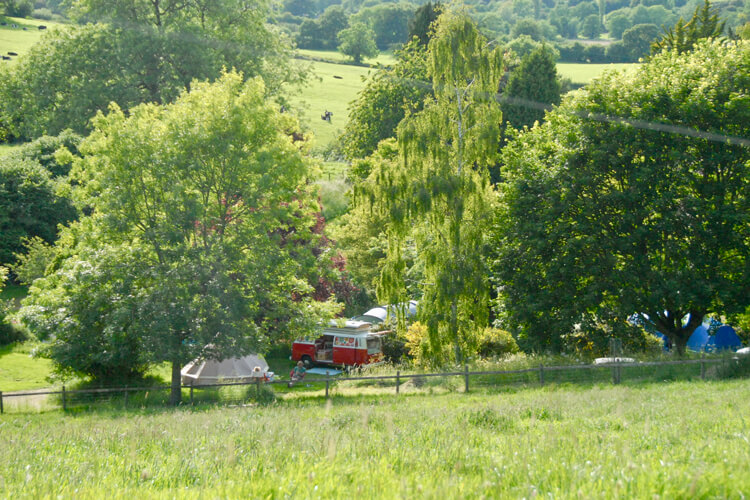
[[[532,127],[544,119],[545,109],[560,104],[562,86],[555,56],[541,46],[521,58],[503,91],[503,119],[516,128]]]

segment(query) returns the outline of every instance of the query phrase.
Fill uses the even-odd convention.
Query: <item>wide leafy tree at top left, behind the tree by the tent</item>
[[[50,30],[2,71],[0,122],[16,137],[84,133],[109,102],[171,102],[223,67],[263,76],[269,93],[299,76],[265,0],[78,0],[71,13],[98,23]]]

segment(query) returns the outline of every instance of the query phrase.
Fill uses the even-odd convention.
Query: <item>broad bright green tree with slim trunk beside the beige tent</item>
[[[97,116],[74,166],[93,213],[24,308],[39,335],[55,335],[50,356],[76,371],[106,377],[101,359],[117,346],[130,354],[115,361],[136,371],[169,362],[173,402],[185,362],[313,329],[326,310],[304,279],[320,263],[310,244],[319,207],[296,123],[259,79],[229,73],[192,89],[171,105]]]

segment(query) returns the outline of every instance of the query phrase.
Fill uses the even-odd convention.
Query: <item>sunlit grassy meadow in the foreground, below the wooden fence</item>
[[[0,416],[6,498],[745,498],[750,382]]]

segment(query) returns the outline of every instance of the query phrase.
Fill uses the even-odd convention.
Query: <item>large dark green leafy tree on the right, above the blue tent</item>
[[[527,345],[648,316],[678,352],[750,292],[750,45],[669,51],[503,151],[499,312]]]

